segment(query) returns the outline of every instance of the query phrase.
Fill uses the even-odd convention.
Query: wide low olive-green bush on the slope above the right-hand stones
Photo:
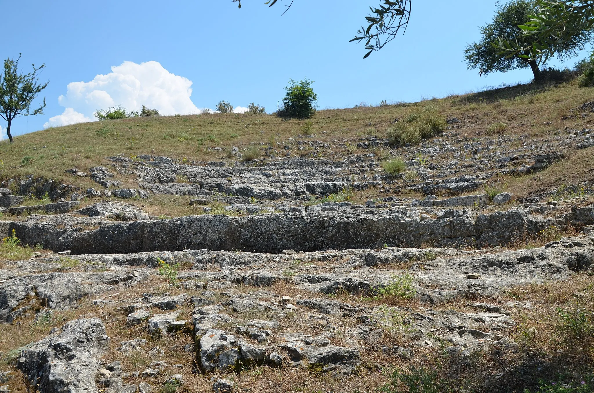
[[[421,115],[412,113],[405,121],[388,128],[388,144],[403,146],[416,145],[422,139],[434,137],[445,130],[445,120],[435,115]]]

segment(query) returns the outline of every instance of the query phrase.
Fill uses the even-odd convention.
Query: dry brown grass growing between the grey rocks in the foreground
[[[169,292],[170,294],[179,294],[185,292],[188,294],[199,294],[197,290],[184,290],[168,284],[162,277],[154,275],[149,281],[132,288],[119,288],[112,296],[103,294],[102,298],[107,298],[119,302],[124,300],[129,303],[132,299],[141,296],[143,292],[151,289],[155,295]],[[235,291],[250,293],[258,290],[267,290],[278,294],[279,296],[292,296],[296,298],[299,294],[302,297],[312,297],[305,293],[294,284],[277,283],[273,287],[249,287],[239,286]],[[578,297],[576,297],[578,296]],[[366,299],[361,295],[340,292],[337,294],[315,294],[315,297],[324,297],[326,299],[339,300],[340,302],[350,303],[355,306],[377,306],[385,305],[381,300]],[[181,373],[184,376],[185,384],[179,388],[178,392],[186,391],[210,391],[212,382],[211,376],[216,378],[232,378],[236,382],[240,391],[248,389],[251,392],[269,392],[269,391],[299,391],[299,392],[375,392],[378,386],[386,384],[392,370],[410,370],[418,367],[421,369],[426,365],[433,365],[434,369],[440,372],[451,373],[452,378],[463,382],[466,386],[478,386],[480,384],[500,384],[500,388],[492,388],[488,391],[512,391],[505,390],[517,388],[523,391],[523,388],[535,386],[538,378],[550,378],[554,372],[559,370],[576,370],[581,372],[583,367],[590,367],[592,362],[592,344],[594,342],[587,340],[565,340],[565,325],[559,318],[558,309],[575,310],[586,308],[592,310],[592,300],[594,299],[594,277],[576,274],[567,281],[548,282],[544,284],[529,284],[526,286],[514,287],[504,294],[495,296],[488,300],[495,304],[514,300],[530,302],[532,306],[522,309],[510,309],[513,318],[517,321],[517,327],[511,332],[505,332],[505,335],[511,333],[511,337],[520,345],[517,351],[486,351],[483,354],[477,354],[470,363],[462,366],[459,360],[452,357],[444,357],[440,350],[435,348],[415,348],[415,358],[412,361],[400,360],[381,351],[381,345],[402,346],[401,335],[397,329],[386,329],[380,339],[372,345],[363,344],[360,348],[362,364],[352,376],[337,378],[331,373],[320,373],[315,369],[293,369],[291,367],[282,367],[274,369],[270,367],[258,367],[255,369],[242,370],[241,373],[215,373],[214,375],[203,375],[195,373],[195,354],[184,351],[186,344],[192,344],[192,337],[189,331],[182,332],[174,336],[164,338],[151,337],[145,325],[127,327],[125,324],[126,316],[116,307],[95,308],[91,305],[91,299],[82,299],[75,310],[67,312],[56,312],[53,318],[40,319],[35,322],[32,316],[18,319],[12,325],[0,325],[0,351],[4,354],[11,353],[11,350],[24,346],[31,341],[40,340],[45,337],[51,328],[61,327],[65,321],[69,321],[78,316],[98,317],[106,325],[108,335],[111,338],[109,351],[103,358],[105,363],[113,360],[120,360],[124,372],[134,370],[143,370],[150,362],[154,360],[166,360],[168,365],[182,365],[181,368],[168,367],[159,379],[150,378],[131,378],[127,383],[138,384],[148,382],[159,386],[165,378],[173,373]],[[447,304],[431,306],[437,310],[460,310],[465,312],[476,312],[466,306],[467,299],[455,299]],[[119,303],[118,303],[119,304]],[[427,305],[421,305],[417,300],[410,299],[406,306],[412,310],[424,312]],[[182,315],[180,318],[191,318],[191,306],[182,306]],[[396,309],[397,310],[397,309]],[[154,310],[154,312],[162,312]],[[324,328],[308,324],[308,314],[316,313],[314,310],[299,307],[295,312],[288,313],[285,318],[280,318],[280,328],[275,332],[283,331],[303,331],[307,334],[323,334]],[[237,319],[236,324],[242,321],[248,321],[254,318],[270,319],[270,312],[250,311],[247,313],[230,313]],[[337,318],[328,316],[331,321],[337,324],[338,330],[332,338],[335,345],[345,345],[343,336],[340,332],[358,325],[356,318]],[[390,321],[397,318],[386,314]],[[338,323],[340,322],[340,323]],[[231,331],[236,324],[229,325]],[[116,348],[120,341],[131,340],[133,338],[146,338],[149,344],[138,353],[132,356],[125,356],[119,353]],[[580,345],[577,345],[580,344]],[[163,350],[164,356],[150,357],[147,351],[150,348],[158,346]],[[8,358],[3,357],[4,363],[0,369],[10,368],[7,363]],[[539,364],[540,368],[530,367],[530,365]],[[457,366],[455,366],[457,364]],[[455,367],[454,367],[455,366]],[[451,368],[454,367],[454,368]],[[526,368],[528,367],[528,368]],[[522,373],[522,378],[520,378]],[[495,375],[500,375],[495,379]],[[20,376],[15,375],[10,381],[11,391],[25,392],[26,384],[20,380]],[[476,391],[485,391],[479,389]]]

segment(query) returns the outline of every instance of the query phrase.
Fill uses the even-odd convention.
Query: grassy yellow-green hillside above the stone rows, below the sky
[[[314,150],[307,144],[295,150],[293,156],[320,157],[342,160],[349,154],[368,154],[356,149],[362,137],[386,137],[395,119],[405,119],[413,113],[429,113],[443,118],[456,117],[461,137],[496,138],[489,134],[494,123],[503,123],[501,133],[521,144],[526,137],[563,134],[565,129],[593,126],[594,114],[582,117],[579,106],[594,97],[593,88],[579,88],[577,81],[557,85],[517,85],[481,93],[450,96],[412,104],[358,106],[349,109],[319,110],[309,120],[285,120],[274,115],[212,114],[127,118],[121,120],[80,123],[49,128],[15,138],[14,144],[0,143],[2,179],[15,176],[46,176],[65,183],[76,181],[83,187],[97,186],[89,178],[73,179],[64,171],[77,167],[108,165],[105,157],[125,154],[151,154],[188,161],[230,160],[228,151],[239,147],[242,153],[258,149],[263,158],[265,148],[272,157],[285,156],[283,147],[308,135],[329,145]],[[520,135],[524,137],[520,140]],[[224,150],[215,150],[220,147]],[[537,175],[506,180],[510,191],[525,195],[548,185],[576,183],[593,178],[590,149],[567,152],[570,159]],[[409,154],[407,148],[378,148],[378,159]],[[233,157],[233,160],[237,160]],[[123,179],[123,186],[135,186],[132,178]],[[364,197],[368,197],[365,195]],[[166,199],[175,199],[167,196]],[[154,198],[153,198],[154,199]],[[157,198],[158,199],[158,198]],[[180,205],[187,204],[188,198]],[[160,204],[160,203],[157,203]],[[179,211],[179,214],[188,213]]]

